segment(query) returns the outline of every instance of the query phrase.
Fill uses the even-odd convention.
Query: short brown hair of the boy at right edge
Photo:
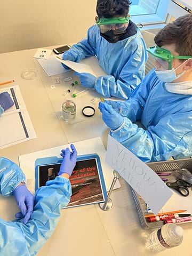
[[[155,36],[155,43],[159,47],[174,43],[179,55],[192,56],[192,14],[179,17],[165,26]]]

